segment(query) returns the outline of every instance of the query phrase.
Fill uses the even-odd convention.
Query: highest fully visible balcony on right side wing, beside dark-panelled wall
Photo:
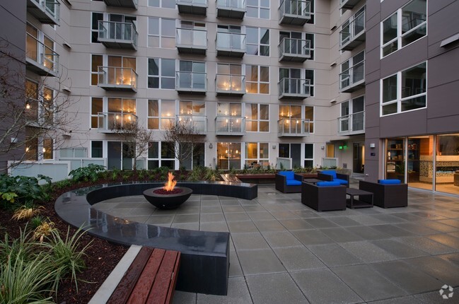
[[[365,41],[365,11],[342,28],[339,38],[339,49],[343,51],[351,51]]]

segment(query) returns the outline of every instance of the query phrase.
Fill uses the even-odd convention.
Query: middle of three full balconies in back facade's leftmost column
[[[137,92],[134,69],[117,66],[98,66],[98,86],[104,90]]]

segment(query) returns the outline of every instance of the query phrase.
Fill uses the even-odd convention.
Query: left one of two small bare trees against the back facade
[[[134,159],[132,169],[137,170],[137,160],[149,150],[153,141],[153,131],[141,127],[136,121],[113,124],[114,131],[122,141],[122,153]]]

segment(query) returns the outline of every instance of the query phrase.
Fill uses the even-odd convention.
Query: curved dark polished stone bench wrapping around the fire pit
[[[146,245],[182,254],[177,290],[226,296],[229,271],[229,233],[168,228],[136,223],[91,208],[91,205],[161,187],[160,182],[134,182],[75,189],[62,194],[54,204],[57,214],[89,234],[122,245]],[[235,182],[179,182],[194,194],[241,199],[257,197],[257,185]],[[153,207],[152,207],[153,208]]]

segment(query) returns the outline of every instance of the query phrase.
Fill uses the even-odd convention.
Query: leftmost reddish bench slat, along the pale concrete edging
[[[127,299],[132,293],[134,289],[136,281],[139,279],[146,262],[149,261],[151,256],[151,252],[153,252],[153,248],[151,247],[141,247],[141,250],[135,257],[134,261],[132,261],[131,266],[127,269],[124,273],[124,276],[118,283],[117,288],[113,291],[112,296],[108,299],[108,303],[110,304],[124,304],[126,303]]]

